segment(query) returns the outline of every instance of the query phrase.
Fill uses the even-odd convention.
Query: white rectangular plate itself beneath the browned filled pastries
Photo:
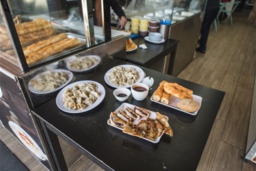
[[[120,109],[124,110],[124,108],[126,108],[126,106],[128,106],[131,109],[134,108],[134,105],[128,104],[128,103],[124,103],[121,106],[119,106],[114,112],[117,113],[118,110],[120,110]],[[145,110],[147,110],[147,109],[145,109]],[[147,111],[150,112],[150,116],[149,116],[150,119],[156,119],[156,112],[152,112],[151,110],[147,110]],[[163,116],[167,119],[167,121],[169,120],[168,116],[165,116],[165,115],[163,115]],[[133,124],[137,125],[139,123],[139,121],[141,121],[141,120],[146,120],[146,118],[145,117],[141,117],[141,119],[139,119],[137,121],[136,120],[133,121]],[[111,125],[110,119],[107,121],[107,123],[109,125]],[[117,128],[117,129],[123,130],[123,128],[121,128],[121,127],[116,127],[115,125],[111,125],[111,126]],[[162,132],[162,134],[164,134],[164,132]],[[143,138],[143,139],[147,140],[147,141],[150,141],[150,142],[153,142],[153,143],[158,143],[160,141],[161,137],[162,137],[162,134],[161,134],[161,136],[155,138],[154,140],[150,140],[150,139],[147,139],[147,138]]]

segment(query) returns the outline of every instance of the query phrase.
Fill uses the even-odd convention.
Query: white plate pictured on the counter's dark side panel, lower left
[[[40,149],[40,146],[27,134],[27,132],[22,129],[20,126],[18,126],[16,123],[9,121],[8,124],[10,125],[10,128],[12,131],[14,131],[14,134],[18,137],[18,139],[33,153],[36,157],[39,159],[45,161],[48,159],[46,155],[43,153],[43,151]]]

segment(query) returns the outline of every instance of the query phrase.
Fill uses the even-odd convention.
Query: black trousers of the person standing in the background
[[[206,43],[208,40],[209,31],[212,25],[212,22],[218,15],[219,7],[215,8],[209,8],[205,10],[205,16],[203,17],[203,23],[201,26],[201,38],[200,38],[200,49],[205,50],[206,49]]]

